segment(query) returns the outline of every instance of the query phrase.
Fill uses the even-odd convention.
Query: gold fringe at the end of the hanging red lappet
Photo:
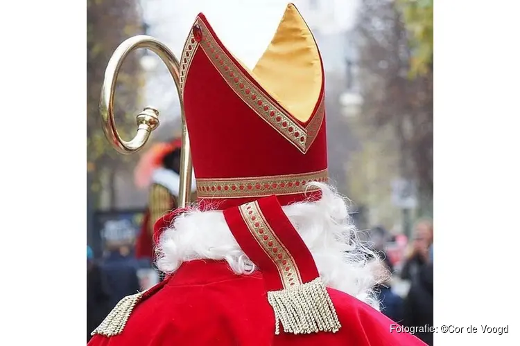
[[[275,311],[277,335],[280,334],[280,322],[284,331],[291,334],[336,333],[341,328],[336,309],[320,277],[306,284],[268,292],[268,301]]]

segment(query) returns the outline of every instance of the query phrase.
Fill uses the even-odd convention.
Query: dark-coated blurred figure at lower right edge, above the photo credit
[[[433,326],[433,262],[420,268],[410,285],[404,300],[404,320],[406,327]],[[417,338],[433,345],[433,333],[417,333]]]

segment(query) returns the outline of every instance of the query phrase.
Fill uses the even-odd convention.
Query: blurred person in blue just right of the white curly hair
[[[379,283],[375,287],[376,296],[379,300],[381,312],[390,320],[401,323],[403,321],[403,298],[392,291],[392,272],[388,262],[376,260],[374,263],[376,277]]]

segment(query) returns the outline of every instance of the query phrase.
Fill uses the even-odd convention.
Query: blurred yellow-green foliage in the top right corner
[[[410,33],[410,74],[427,75],[433,69],[433,0],[399,0]]]

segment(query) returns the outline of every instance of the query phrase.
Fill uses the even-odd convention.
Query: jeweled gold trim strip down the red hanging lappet
[[[302,277],[294,258],[263,217],[258,202],[245,203],[239,210],[251,235],[277,267],[284,288],[302,284]]]

